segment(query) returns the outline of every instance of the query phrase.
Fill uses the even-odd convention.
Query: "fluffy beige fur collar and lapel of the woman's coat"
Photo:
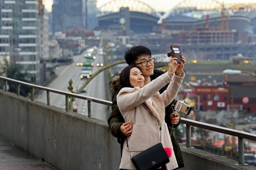
[[[139,87],[135,87],[133,89],[122,89],[118,95],[121,95],[123,93],[134,93],[139,91]],[[158,121],[159,126],[162,125],[164,122],[164,117],[165,117],[165,108],[164,108],[164,103],[162,100],[162,97],[160,96],[160,93],[157,92],[151,97],[152,104],[150,103],[149,100],[146,100],[145,102],[142,103],[142,105],[149,110],[156,118]]]

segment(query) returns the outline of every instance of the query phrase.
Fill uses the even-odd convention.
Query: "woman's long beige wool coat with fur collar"
[[[117,106],[125,122],[132,122],[134,125],[131,136],[128,136],[124,142],[119,169],[136,169],[128,152],[127,140],[133,157],[160,143],[160,126],[162,127],[163,147],[172,149],[172,156],[170,162],[166,164],[166,169],[178,167],[169,131],[164,121],[164,108],[177,96],[184,76],[182,72],[181,77],[175,74],[169,77],[166,72],[141,89],[135,87],[120,90],[117,95]],[[168,88],[160,94],[158,91],[167,83],[170,83]]]

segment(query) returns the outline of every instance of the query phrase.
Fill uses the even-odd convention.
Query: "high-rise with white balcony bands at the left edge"
[[[39,84],[42,3],[40,0],[0,0],[0,4],[0,56],[10,56],[10,62],[23,66],[29,81]]]

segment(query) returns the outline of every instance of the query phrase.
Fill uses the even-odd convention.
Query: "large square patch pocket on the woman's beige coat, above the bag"
[[[146,150],[149,146],[147,124],[133,125],[132,134],[128,136],[127,140],[131,152],[142,152]]]

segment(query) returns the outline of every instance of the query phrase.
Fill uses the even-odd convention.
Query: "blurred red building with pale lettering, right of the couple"
[[[256,114],[255,76],[224,74],[223,84],[222,86],[190,84],[190,88],[194,92],[194,96],[191,97],[197,102],[198,96],[200,96],[200,110],[230,110],[234,108]]]

